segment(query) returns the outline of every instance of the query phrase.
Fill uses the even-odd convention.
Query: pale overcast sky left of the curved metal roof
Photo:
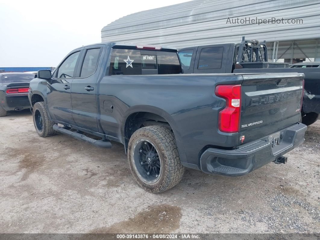
[[[71,50],[101,42],[110,22],[182,2],[0,0],[0,67],[56,67]]]

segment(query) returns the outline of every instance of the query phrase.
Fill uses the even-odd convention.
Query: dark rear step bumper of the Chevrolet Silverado
[[[207,149],[200,158],[201,170],[205,173],[242,176],[263,165],[275,161],[304,141],[307,126],[297,123],[283,129],[279,145],[271,147],[268,137],[240,146],[234,150]]]

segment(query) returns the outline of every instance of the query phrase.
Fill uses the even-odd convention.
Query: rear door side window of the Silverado
[[[87,50],[81,67],[81,78],[89,77],[96,71],[98,60],[100,57],[100,50],[101,48],[93,48]]]

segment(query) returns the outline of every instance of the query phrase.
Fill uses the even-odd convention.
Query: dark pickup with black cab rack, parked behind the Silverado
[[[288,68],[267,62],[265,43],[244,40],[239,44],[215,44],[179,49],[184,73],[303,73],[302,123],[314,123],[320,113],[320,68]]]

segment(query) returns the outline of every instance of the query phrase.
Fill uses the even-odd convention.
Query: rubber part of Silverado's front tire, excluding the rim
[[[39,111],[42,116],[43,128],[41,131],[36,126],[36,120],[35,120],[36,111]],[[36,131],[40,137],[49,137],[56,134],[56,131],[53,130],[54,123],[49,120],[44,102],[35,103],[35,105],[33,106],[32,118],[33,118],[33,124],[35,125]]]

